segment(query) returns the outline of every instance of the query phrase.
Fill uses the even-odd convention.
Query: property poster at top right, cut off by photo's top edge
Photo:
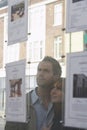
[[[87,30],[87,0],[67,0],[66,6],[66,32]]]

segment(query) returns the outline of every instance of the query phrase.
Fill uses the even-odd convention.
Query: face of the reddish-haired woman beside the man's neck
[[[51,90],[50,95],[51,95],[51,101],[53,103],[62,102],[62,96],[63,96],[62,81],[58,81],[57,83],[55,83],[54,87]]]

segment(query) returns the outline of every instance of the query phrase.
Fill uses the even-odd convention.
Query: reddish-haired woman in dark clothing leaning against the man
[[[62,78],[60,78],[53,86],[51,90],[51,101],[53,102],[53,107],[54,107],[54,118],[53,118],[53,123],[47,127],[43,128],[43,130],[79,130],[77,128],[70,128],[70,127],[65,127],[63,125],[63,89],[62,86]]]

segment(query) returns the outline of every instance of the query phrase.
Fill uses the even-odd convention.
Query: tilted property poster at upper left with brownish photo
[[[8,1],[8,45],[27,40],[27,0]]]

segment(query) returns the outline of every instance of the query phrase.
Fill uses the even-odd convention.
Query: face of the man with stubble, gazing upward
[[[40,62],[37,70],[37,84],[39,87],[47,88],[53,85],[55,75],[50,62]]]

